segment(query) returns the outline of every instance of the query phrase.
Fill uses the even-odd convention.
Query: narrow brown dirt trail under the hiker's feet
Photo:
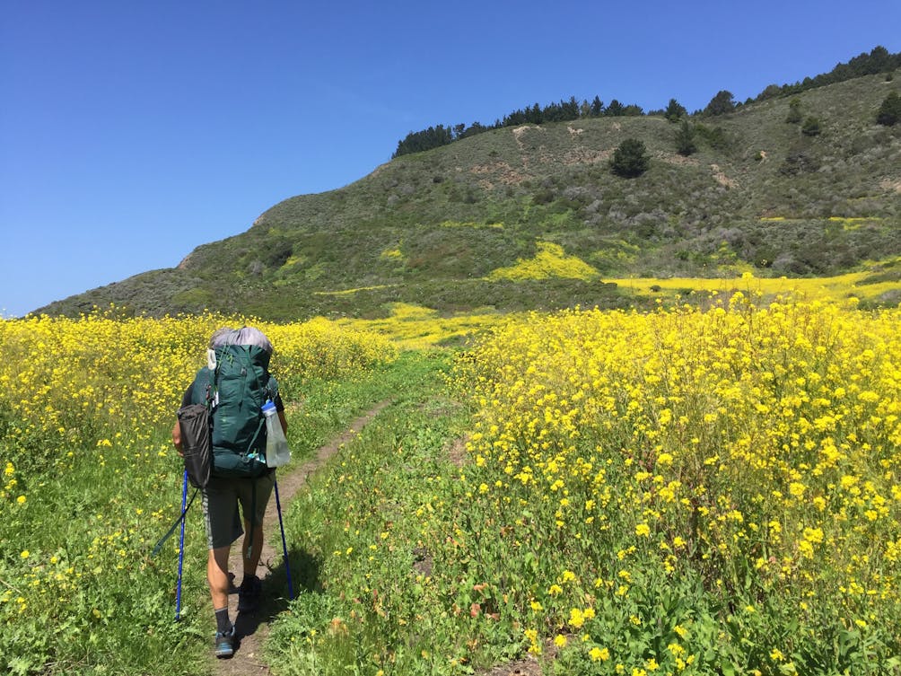
[[[319,470],[325,462],[337,453],[341,446],[348,443],[359,431],[369,424],[378,413],[387,405],[389,401],[383,401],[375,407],[369,409],[363,416],[359,416],[354,420],[349,429],[332,439],[330,443],[325,444],[311,460],[305,461],[290,473],[278,474],[278,498],[281,503],[282,513],[290,504],[291,498],[295,493],[302,489],[306,480],[316,470]],[[229,595],[229,616],[235,623],[238,634],[238,645],[234,656],[228,660],[214,660],[213,673],[222,676],[265,676],[269,673],[268,666],[262,662],[261,647],[268,633],[270,613],[267,612],[267,601],[273,596],[286,595],[287,589],[271,589],[267,584],[268,571],[278,567],[281,564],[282,552],[280,549],[273,548],[268,541],[272,539],[272,534],[277,534],[278,540],[278,513],[276,512],[275,496],[269,500],[266,509],[265,527],[267,537],[263,543],[263,553],[259,557],[258,574],[263,580],[263,607],[254,615],[238,616],[238,594]],[[232,545],[232,556],[229,559],[229,570],[236,572],[238,575],[237,582],[241,582],[241,541]],[[295,571],[296,573],[297,571]],[[295,594],[297,593],[297,583],[294,582]],[[211,646],[212,647],[212,646]]]

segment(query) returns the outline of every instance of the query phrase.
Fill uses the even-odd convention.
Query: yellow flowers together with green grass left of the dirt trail
[[[276,345],[289,416],[304,421],[289,429],[298,461],[383,396],[367,374],[396,351],[328,323],[114,312],[0,321],[0,671],[207,670],[213,625],[199,500],[187,518],[178,623],[178,533],[159,556],[150,551],[180,512],[183,464],[169,430],[181,394],[205,363],[210,333],[242,324]]]

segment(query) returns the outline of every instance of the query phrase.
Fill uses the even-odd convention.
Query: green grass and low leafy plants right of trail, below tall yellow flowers
[[[753,573],[733,569],[731,559],[688,553],[677,557],[674,573],[654,544],[627,544],[641,542],[632,523],[644,518],[637,507],[605,513],[614,523],[625,519],[619,531],[602,526],[592,535],[583,525],[573,536],[561,530],[564,498],[577,515],[586,498],[569,484],[568,470],[578,476],[592,449],[626,447],[614,433],[573,442],[578,462],[560,460],[566,470],[557,475],[568,477],[570,492],[555,492],[543,463],[535,465],[538,495],[507,485],[519,476],[503,469],[504,457],[510,466],[517,462],[514,451],[504,456],[504,437],[518,448],[528,437],[515,425],[494,433],[502,457],[493,469],[478,459],[453,464],[455,440],[473,429],[469,411],[441,388],[440,361],[420,365],[430,367],[420,371],[421,380],[411,381],[348,443],[287,514],[292,557],[305,564],[306,575],[299,597],[272,628],[266,654],[273,673],[487,673],[526,651],[540,654],[547,674],[623,672],[617,664],[625,673],[660,668],[721,676],[754,668],[774,674],[901,670],[896,623],[880,616],[896,614],[890,603],[880,609],[874,600],[873,613],[853,624],[843,610],[828,607],[833,599],[822,606],[803,602],[805,615],[799,615],[796,598],[739,582]],[[490,380],[490,365],[485,373]],[[459,385],[465,398],[472,383]],[[615,452],[606,462],[598,459],[617,494],[633,489],[627,454],[622,467]],[[590,461],[587,470],[590,478]],[[742,490],[741,482],[735,489]],[[885,574],[893,574],[889,564]],[[551,657],[550,642],[565,648]]]

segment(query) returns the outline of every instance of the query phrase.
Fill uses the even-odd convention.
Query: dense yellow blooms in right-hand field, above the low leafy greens
[[[473,500],[712,589],[751,577],[802,609],[828,601],[849,624],[901,604],[897,311],[739,293],[708,311],[533,315],[458,376],[479,408]],[[628,571],[607,574],[630,594]]]

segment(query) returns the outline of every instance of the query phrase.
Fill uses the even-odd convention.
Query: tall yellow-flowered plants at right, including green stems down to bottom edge
[[[751,300],[536,315],[460,360],[467,509],[508,562],[474,575],[532,608],[533,653],[901,669],[901,315]]]

